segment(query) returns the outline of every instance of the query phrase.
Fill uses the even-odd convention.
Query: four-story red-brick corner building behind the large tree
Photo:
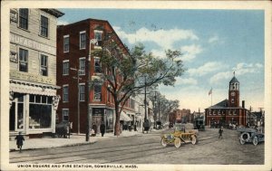
[[[98,132],[102,121],[106,131],[113,130],[114,101],[107,90],[107,82],[94,84],[89,89],[89,82],[102,75],[101,57],[92,56],[92,51],[102,49],[107,32],[114,33],[121,50],[129,53],[108,21],[86,19],[57,28],[57,85],[61,87],[58,94],[62,97],[57,113],[59,120],[73,122],[73,132],[85,133],[88,121],[92,121],[91,126],[96,125]],[[128,115],[135,118],[133,100],[126,102],[121,119],[128,119]]]

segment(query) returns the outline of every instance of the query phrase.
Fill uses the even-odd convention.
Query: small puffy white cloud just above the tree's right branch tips
[[[182,46],[180,48],[181,53],[183,53],[181,60],[184,62],[191,61],[196,58],[197,54],[203,52],[203,48],[198,44],[191,44],[187,46]]]

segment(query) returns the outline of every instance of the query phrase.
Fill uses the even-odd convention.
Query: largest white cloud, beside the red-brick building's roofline
[[[178,28],[154,31],[141,27],[139,30],[135,31],[135,33],[126,33],[121,30],[121,27],[119,26],[113,26],[113,29],[121,39],[126,39],[131,44],[137,42],[152,42],[156,43],[163,50],[172,49],[173,44],[181,40],[199,40],[199,37],[193,33],[193,31]]]

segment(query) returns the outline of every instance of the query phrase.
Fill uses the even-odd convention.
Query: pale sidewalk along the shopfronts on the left
[[[141,131],[122,131],[119,137],[131,137],[141,134]],[[101,134],[97,134],[96,137],[90,137],[89,142],[86,141],[85,134],[72,134],[70,138],[25,138],[24,137],[24,146],[25,149],[37,149],[37,148],[50,148],[50,147],[68,147],[68,146],[78,146],[83,144],[93,144],[97,141],[101,141],[107,138],[117,138],[113,133],[105,133],[104,137]],[[9,151],[17,151],[15,140],[9,141]]]

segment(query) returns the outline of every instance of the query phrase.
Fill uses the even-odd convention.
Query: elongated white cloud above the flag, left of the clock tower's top
[[[208,74],[212,71],[219,71],[222,70],[222,68],[226,68],[227,66],[223,64],[222,62],[207,62],[204,65],[200,66],[199,68],[193,68],[189,69],[189,75],[191,76],[203,76]]]

